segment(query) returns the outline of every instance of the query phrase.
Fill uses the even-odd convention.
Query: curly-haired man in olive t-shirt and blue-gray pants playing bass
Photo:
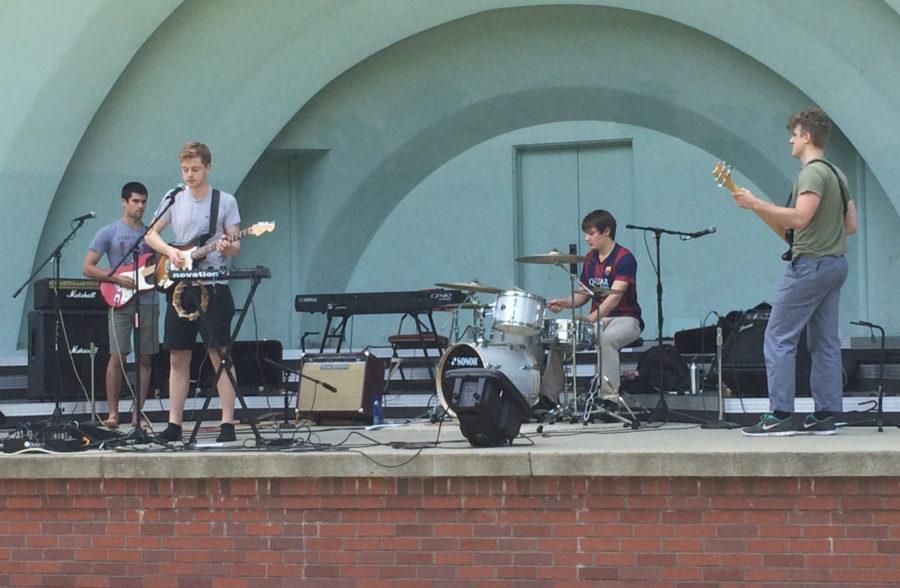
[[[788,206],[776,206],[744,188],[735,203],[770,225],[793,231],[788,267],[766,327],[763,352],[769,410],[759,423],[743,429],[749,436],[833,435],[835,413],[843,411],[838,304],[847,278],[847,235],[856,232],[856,207],[847,178],[824,159],[831,121],[818,108],[792,116],[791,155],[802,166]],[[802,424],[793,419],[797,344],[804,327],[812,357],[810,390],[815,412]]]

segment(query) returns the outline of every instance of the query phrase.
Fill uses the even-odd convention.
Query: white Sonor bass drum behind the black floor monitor
[[[450,409],[451,382],[448,374],[461,368],[486,368],[503,372],[522,393],[529,406],[537,402],[541,391],[540,366],[534,354],[518,345],[476,345],[457,343],[441,356],[437,364],[437,396],[448,414]]]

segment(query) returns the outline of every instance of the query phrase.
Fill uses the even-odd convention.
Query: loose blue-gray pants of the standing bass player
[[[785,270],[763,346],[770,410],[794,412],[797,344],[803,327],[812,357],[809,386],[816,410],[843,410],[838,304],[846,278],[843,256],[798,257]]]

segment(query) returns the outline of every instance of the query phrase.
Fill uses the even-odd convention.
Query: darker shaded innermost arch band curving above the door
[[[553,108],[546,108],[547,104]],[[671,116],[656,117],[661,111]],[[608,88],[544,88],[496,96],[435,121],[377,163],[334,213],[309,255],[315,260],[309,275],[324,276],[312,289],[343,291],[384,219],[412,188],[444,163],[475,145],[524,126],[582,120],[630,124],[676,136],[707,152],[741,161],[742,173],[759,178],[758,185],[773,193],[790,184],[788,174],[770,158],[771,154],[729,129],[724,121],[681,104]],[[434,145],[440,148],[434,149]],[[329,254],[336,250],[341,251],[340,256]]]

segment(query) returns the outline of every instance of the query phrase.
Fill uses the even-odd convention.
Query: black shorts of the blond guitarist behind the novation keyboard
[[[234,318],[234,298],[226,284],[210,284],[205,286],[189,286],[181,296],[182,308],[193,311],[199,308],[200,289],[205,288],[209,297],[206,312],[201,312],[197,320],[188,320],[178,316],[172,307],[172,292],[166,294],[166,334],[165,348],[192,349],[197,341],[197,334],[203,342],[211,347],[225,347],[231,342],[231,319]]]

